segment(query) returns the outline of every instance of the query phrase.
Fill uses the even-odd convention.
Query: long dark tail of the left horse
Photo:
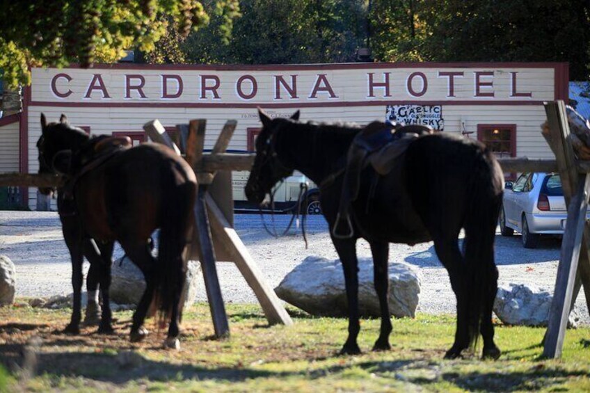
[[[164,193],[154,292],[160,321],[174,315],[175,309],[179,319],[182,318],[180,299],[186,280],[183,254],[189,243],[196,184],[170,184],[167,189],[170,192]]]

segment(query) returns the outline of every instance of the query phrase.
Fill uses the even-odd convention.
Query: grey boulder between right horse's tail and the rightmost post
[[[509,284],[498,287],[494,312],[507,325],[547,326],[552,294],[534,285]],[[573,310],[568,326],[576,326],[579,316]]]

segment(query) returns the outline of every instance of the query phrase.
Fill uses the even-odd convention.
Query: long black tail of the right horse
[[[487,149],[478,154],[467,187],[468,207],[465,214],[465,281],[468,294],[468,337],[475,347],[482,319],[491,319],[497,292],[497,268],[494,262],[494,240],[498,215],[502,207],[504,175],[500,164]],[[491,323],[491,321],[489,321]],[[488,323],[489,326],[489,323]]]

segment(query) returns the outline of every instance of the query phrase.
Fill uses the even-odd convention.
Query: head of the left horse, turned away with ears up
[[[88,138],[83,129],[70,125],[65,115],[61,115],[59,122],[47,123],[45,115],[41,114],[41,136],[37,141],[38,173],[70,173],[72,152],[88,141]],[[39,191],[47,195],[53,190],[41,188]]]

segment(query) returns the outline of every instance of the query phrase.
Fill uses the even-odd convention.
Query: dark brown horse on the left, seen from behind
[[[148,334],[143,321],[150,303],[156,300],[159,310],[170,316],[166,344],[177,346],[186,275],[183,252],[190,238],[196,195],[193,170],[164,145],[125,148],[116,138],[90,138],[82,129],[72,127],[65,115],[49,124],[41,115],[41,128],[39,173],[66,177],[58,195],[58,211],[63,224],[67,223],[63,234],[72,257],[74,287],[74,310],[66,331],[79,332],[83,255],[98,265],[104,307],[99,332],[112,331],[110,261],[113,243],[118,241],[146,282],[133,316],[131,341]],[[150,236],[157,228],[159,251],[155,259]]]

